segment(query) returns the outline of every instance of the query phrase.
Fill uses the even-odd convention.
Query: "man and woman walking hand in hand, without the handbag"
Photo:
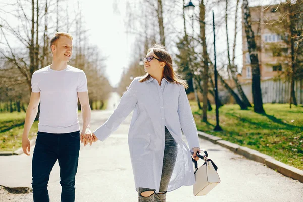
[[[151,47],[143,59],[147,72],[134,78],[108,120],[91,132],[87,80],[82,70],[67,65],[72,36],[59,32],[51,40],[52,64],[32,76],[22,148],[30,154],[29,130],[38,111],[39,128],[32,162],[34,201],[49,201],[47,184],[52,167],[60,166],[61,201],[75,201],[75,175],[80,140],[84,145],[104,141],[133,111],[128,144],[138,201],[166,201],[166,193],[193,185],[191,154],[200,150],[185,80],[173,70],[171,55],[162,45]],[[77,115],[81,103],[83,128]],[[182,131],[188,146],[182,140]]]

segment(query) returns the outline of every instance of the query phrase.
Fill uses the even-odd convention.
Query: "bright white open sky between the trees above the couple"
[[[118,6],[114,9],[113,2]],[[110,84],[117,86],[123,68],[130,62],[133,36],[126,34],[124,26],[124,0],[95,1],[81,0],[85,27],[89,29],[89,42],[97,45],[107,59],[106,74]]]

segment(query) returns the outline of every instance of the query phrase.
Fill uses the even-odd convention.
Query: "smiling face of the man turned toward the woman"
[[[73,54],[73,41],[66,36],[60,36],[55,45],[52,45],[53,58],[69,62]]]

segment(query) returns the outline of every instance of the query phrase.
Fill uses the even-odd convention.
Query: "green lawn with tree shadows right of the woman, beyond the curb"
[[[238,105],[219,108],[221,132],[216,125],[215,106],[208,111],[208,123],[201,122],[201,110],[190,102],[197,129],[224,140],[258,150],[290,166],[303,170],[303,107],[264,104],[265,114]]]

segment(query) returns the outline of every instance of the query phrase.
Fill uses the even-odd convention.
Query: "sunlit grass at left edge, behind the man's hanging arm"
[[[21,147],[25,112],[0,114],[0,151],[15,151]],[[32,139],[38,131],[38,121],[35,121],[29,132]]]

